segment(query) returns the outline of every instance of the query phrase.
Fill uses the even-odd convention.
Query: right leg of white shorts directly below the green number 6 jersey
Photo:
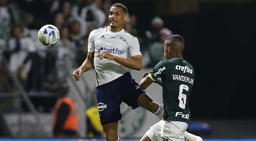
[[[180,121],[163,121],[161,138],[163,141],[184,141],[184,132],[188,124]]]

